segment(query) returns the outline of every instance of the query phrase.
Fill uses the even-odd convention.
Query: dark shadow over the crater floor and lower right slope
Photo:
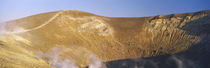
[[[199,36],[200,42],[173,55],[106,62],[107,68],[210,68],[210,15],[190,21],[180,29],[188,35]]]

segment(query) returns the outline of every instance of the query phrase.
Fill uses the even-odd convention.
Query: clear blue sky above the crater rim
[[[210,0],[0,0],[0,22],[58,10],[144,17],[209,9]]]

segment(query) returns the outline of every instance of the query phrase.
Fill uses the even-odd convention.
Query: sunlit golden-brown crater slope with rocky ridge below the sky
[[[208,41],[208,29],[210,11],[139,18],[43,13],[1,25],[0,67],[51,68],[66,59],[86,67],[91,54],[103,62],[177,54]]]

